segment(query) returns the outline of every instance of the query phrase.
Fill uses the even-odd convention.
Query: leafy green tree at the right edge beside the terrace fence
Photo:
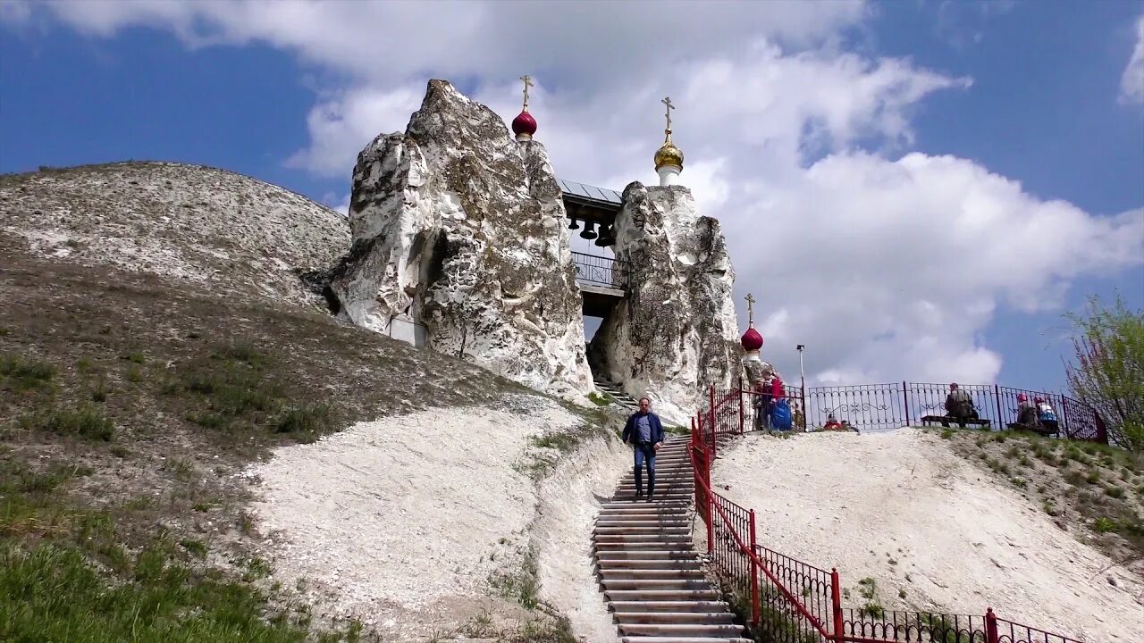
[[[1129,310],[1119,295],[1111,308],[1094,296],[1085,315],[1065,317],[1073,326],[1075,360],[1065,364],[1073,396],[1104,418],[1110,440],[1144,451],[1144,310]]]

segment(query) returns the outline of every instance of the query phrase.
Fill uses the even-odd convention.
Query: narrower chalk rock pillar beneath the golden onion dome
[[[742,349],[731,288],[734,270],[718,221],[696,213],[678,185],[623,190],[615,257],[628,263],[628,297],[593,338],[589,359],[633,397],[683,423],[709,383],[725,389]]]

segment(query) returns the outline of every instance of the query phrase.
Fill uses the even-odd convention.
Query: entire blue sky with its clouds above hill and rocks
[[[529,6],[498,35],[495,5],[0,5],[0,172],[178,160],[336,206],[428,78],[511,118],[529,72],[557,174],[617,189],[653,182],[662,125],[654,104],[612,105],[678,96],[683,183],[723,221],[737,296],[761,300],[764,358],[788,378],[802,342],[812,381],[1058,388],[1063,311],[1117,289],[1144,307],[1144,2],[673,3],[670,54],[626,13],[656,6]],[[532,33],[578,21],[587,41]]]

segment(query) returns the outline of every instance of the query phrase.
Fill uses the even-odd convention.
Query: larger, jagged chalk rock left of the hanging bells
[[[358,154],[350,203],[353,248],[329,284],[342,315],[379,332],[405,316],[434,350],[557,395],[593,390],[543,145],[432,80],[405,134]]]

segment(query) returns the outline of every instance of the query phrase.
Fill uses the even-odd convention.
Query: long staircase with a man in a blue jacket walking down
[[[635,500],[629,471],[604,503],[593,537],[599,582],[623,643],[752,643],[692,548],[686,448],[686,438],[660,448],[653,502]]]

